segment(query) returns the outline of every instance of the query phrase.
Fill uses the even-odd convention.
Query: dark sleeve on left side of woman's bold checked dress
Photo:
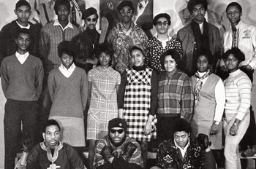
[[[124,93],[125,93],[126,85],[127,85],[127,71],[124,71],[121,74],[121,84],[119,86],[118,109],[124,109]]]

